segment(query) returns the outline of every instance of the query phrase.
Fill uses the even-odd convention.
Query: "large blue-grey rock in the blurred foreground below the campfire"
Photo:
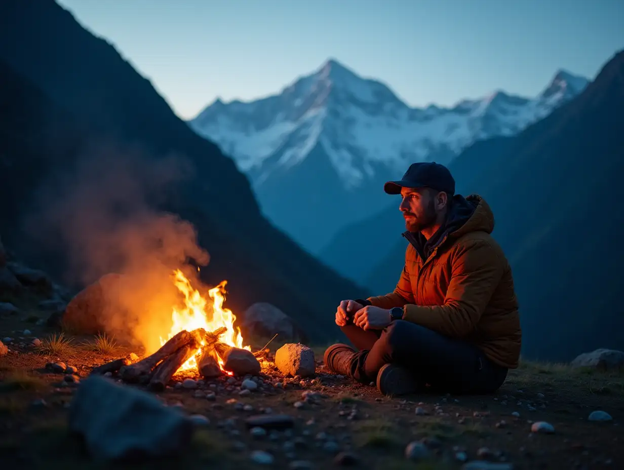
[[[95,458],[118,460],[182,453],[194,427],[176,407],[95,375],[80,383],[69,409],[69,428],[84,438]]]

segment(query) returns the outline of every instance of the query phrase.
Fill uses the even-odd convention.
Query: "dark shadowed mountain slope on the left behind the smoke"
[[[140,231],[175,248],[165,255],[201,257],[180,220],[210,254],[202,279],[228,280],[235,313],[267,301],[328,341],[337,303],[366,295],[268,222],[232,159],[105,39],[51,0],[0,2],[2,241],[55,278],[80,269],[84,285],[118,264],[120,245],[152,249]]]

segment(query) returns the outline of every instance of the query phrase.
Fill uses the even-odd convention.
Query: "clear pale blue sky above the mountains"
[[[591,79],[624,49],[622,0],[57,0],[183,119],[278,92],[333,57],[407,104]]]

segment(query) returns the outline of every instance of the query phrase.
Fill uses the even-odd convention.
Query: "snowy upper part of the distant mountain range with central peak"
[[[436,158],[448,162],[477,139],[514,135],[578,95],[588,80],[557,71],[534,98],[502,90],[454,107],[411,108],[382,82],[363,78],[336,59],[275,95],[251,102],[215,100],[190,126],[232,155],[252,181],[306,159],[317,145],[347,187]]]

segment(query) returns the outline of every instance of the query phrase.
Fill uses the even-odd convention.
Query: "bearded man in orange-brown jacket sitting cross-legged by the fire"
[[[444,165],[412,164],[384,185],[402,197],[409,245],[396,288],[343,300],[336,324],[351,343],[325,351],[330,370],[381,393],[491,393],[517,368],[520,320],[509,263],[478,195],[455,195]]]

